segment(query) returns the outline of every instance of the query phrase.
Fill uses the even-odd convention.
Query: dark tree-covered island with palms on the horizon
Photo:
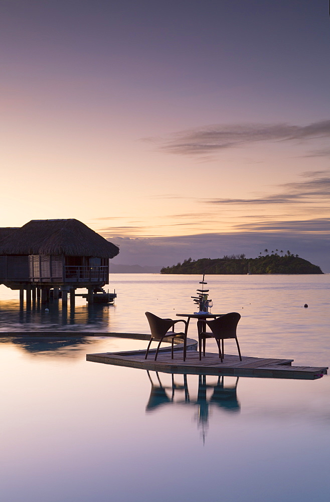
[[[293,255],[289,251],[283,256],[272,251],[261,253],[257,258],[245,255],[225,255],[223,258],[201,258],[184,260],[172,267],[163,267],[160,274],[323,274],[317,265]]]

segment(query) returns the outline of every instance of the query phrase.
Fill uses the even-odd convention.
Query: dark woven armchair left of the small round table
[[[157,359],[158,351],[159,351],[159,346],[160,343],[162,342],[163,338],[165,337],[172,337],[172,359],[174,358],[173,355],[173,345],[174,345],[174,339],[176,337],[179,338],[184,338],[184,361],[186,360],[186,350],[187,350],[187,328],[188,328],[188,323],[184,319],[178,319],[178,320],[172,320],[172,319],[161,319],[160,317],[157,317],[154,314],[151,314],[150,312],[145,312],[146,318],[149,322],[150,325],[150,331],[151,331],[151,338],[148,344],[148,347],[146,349],[145,353],[145,359],[148,356],[150,344],[152,340],[159,340],[156,354],[154,356],[154,360]],[[184,322],[185,323],[185,332],[184,333],[175,333],[174,332],[174,325],[177,322]],[[172,328],[172,331],[169,332],[169,329]]]

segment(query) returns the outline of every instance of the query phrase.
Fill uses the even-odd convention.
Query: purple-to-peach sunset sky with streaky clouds
[[[327,0],[0,0],[0,226],[330,272]]]

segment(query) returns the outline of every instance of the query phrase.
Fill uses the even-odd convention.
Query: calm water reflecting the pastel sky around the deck
[[[18,293],[0,286],[6,502],[328,498],[329,376],[218,382],[188,375],[185,383],[175,375],[173,385],[168,374],[86,362],[86,353],[144,348],[144,341],[102,332],[148,332],[145,310],[193,312],[200,280],[116,274],[109,286],[118,294],[115,306],[88,308],[77,298],[75,312],[62,312],[60,301],[48,313],[20,309]],[[242,315],[244,355],[329,365],[330,275],[206,280],[214,313]],[[71,333],[60,340],[10,336],[45,329]],[[194,322],[189,336],[196,337]]]

